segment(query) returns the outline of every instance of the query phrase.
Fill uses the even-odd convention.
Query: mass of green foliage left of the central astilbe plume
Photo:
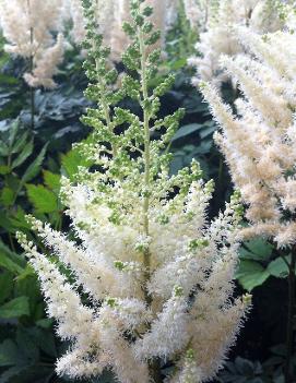
[[[31,236],[25,220],[28,213],[61,228],[61,153],[87,133],[78,118],[87,105],[79,59],[68,57],[57,89],[35,92],[34,131],[28,88],[22,77],[25,64],[0,53],[1,383],[54,381],[60,345],[52,321],[46,319],[38,280],[20,253],[14,234],[21,229]],[[71,152],[67,156],[75,160]]]

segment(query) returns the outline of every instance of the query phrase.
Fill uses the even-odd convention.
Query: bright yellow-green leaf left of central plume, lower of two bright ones
[[[27,184],[27,196],[37,213],[52,213],[58,208],[58,201],[55,193],[43,184]]]

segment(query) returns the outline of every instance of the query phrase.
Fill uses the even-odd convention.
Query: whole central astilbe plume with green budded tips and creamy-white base
[[[81,168],[75,182],[62,182],[75,241],[28,217],[71,278],[19,234],[48,314],[60,337],[71,342],[57,372],[80,378],[111,369],[123,383],[202,382],[221,367],[249,307],[248,296],[232,298],[239,195],[209,223],[213,183],[201,180],[199,165],[169,176],[169,143],[183,110],[157,118],[159,97],[174,77],[150,89],[161,57],[151,51],[159,37],[150,22],[152,8],[130,2],[131,22],[123,25],[131,39],[122,57],[127,73],[115,92],[110,50],[95,33],[92,1],[83,4],[86,95],[97,108],[83,117],[94,129],[93,143],[80,146],[96,169]],[[123,97],[139,103],[140,116],[116,107]],[[174,369],[165,375],[163,367]]]

